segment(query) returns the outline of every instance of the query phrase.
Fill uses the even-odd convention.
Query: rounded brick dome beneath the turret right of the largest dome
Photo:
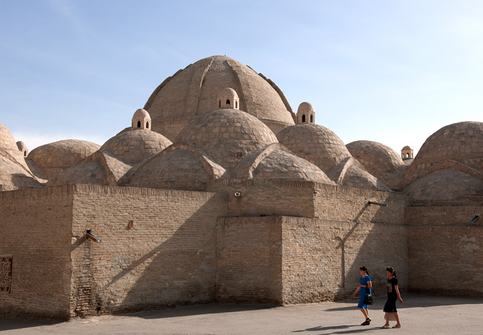
[[[344,142],[333,131],[318,124],[287,127],[277,134],[277,138],[288,150],[324,172],[351,157]]]

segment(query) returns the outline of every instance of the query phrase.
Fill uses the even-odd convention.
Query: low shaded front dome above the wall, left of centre
[[[224,175],[225,169],[210,160],[204,151],[190,144],[176,143],[144,163],[127,186],[205,191],[208,180]]]

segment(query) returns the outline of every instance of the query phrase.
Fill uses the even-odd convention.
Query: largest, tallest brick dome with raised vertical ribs
[[[226,87],[238,93],[240,110],[274,133],[295,124],[290,105],[270,79],[234,59],[213,56],[179,70],[156,88],[144,106],[151,115],[152,130],[175,140],[195,116],[218,108],[217,96]]]

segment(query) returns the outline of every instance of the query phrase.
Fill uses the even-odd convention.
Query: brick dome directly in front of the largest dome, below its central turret
[[[225,169],[233,169],[251,151],[276,143],[277,137],[256,117],[222,108],[199,115],[176,137],[203,149]]]

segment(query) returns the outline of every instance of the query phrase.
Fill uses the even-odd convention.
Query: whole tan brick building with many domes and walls
[[[483,123],[446,126],[413,157],[345,145],[315,113],[213,56],[102,146],[29,153],[0,124],[0,314],[317,303],[350,296],[361,265],[375,292],[391,265],[402,291],[483,296]]]

